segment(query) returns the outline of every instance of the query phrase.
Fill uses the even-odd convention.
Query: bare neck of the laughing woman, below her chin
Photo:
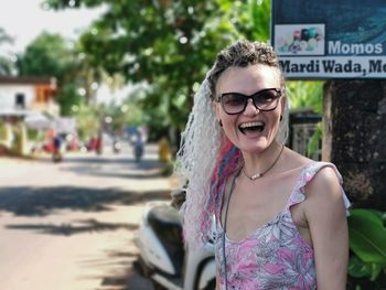
[[[261,173],[268,174],[271,172],[277,163],[277,159],[280,158],[283,146],[278,142],[272,142],[267,149],[258,153],[245,153],[244,159],[244,173],[249,179],[254,175]],[[272,167],[272,168],[271,168]]]

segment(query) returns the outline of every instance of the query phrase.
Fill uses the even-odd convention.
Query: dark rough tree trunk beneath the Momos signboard
[[[329,80],[323,103],[322,159],[353,207],[386,211],[386,80]]]

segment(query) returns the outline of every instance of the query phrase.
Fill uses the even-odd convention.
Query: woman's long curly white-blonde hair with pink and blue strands
[[[265,43],[238,41],[217,54],[214,66],[194,95],[181,148],[176,155],[175,173],[186,184],[186,200],[181,207],[184,238],[189,247],[201,247],[211,235],[217,192],[226,178],[237,169],[240,152],[223,135],[212,106],[216,84],[228,67],[264,64],[277,67],[281,86],[282,72],[274,49]],[[287,103],[286,103],[287,104]],[[286,111],[288,111],[286,109]],[[280,122],[277,140],[285,143],[288,132],[288,114]]]

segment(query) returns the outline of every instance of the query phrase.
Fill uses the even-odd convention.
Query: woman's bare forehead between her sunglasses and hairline
[[[216,94],[237,92],[246,95],[271,87],[280,87],[280,71],[264,64],[247,67],[232,66],[224,71],[216,84]]]

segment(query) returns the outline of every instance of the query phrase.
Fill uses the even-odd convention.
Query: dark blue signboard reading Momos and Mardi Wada
[[[287,78],[386,78],[385,0],[272,0]]]

